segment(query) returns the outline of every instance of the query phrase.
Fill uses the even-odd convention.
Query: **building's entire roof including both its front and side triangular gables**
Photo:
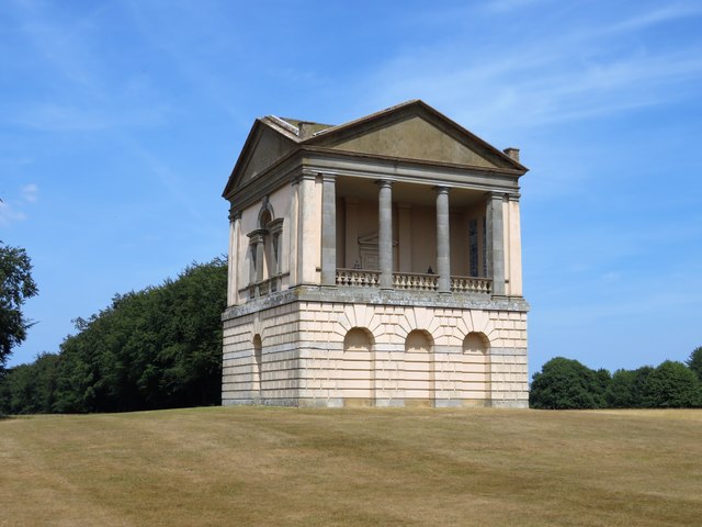
[[[295,150],[423,161],[520,176],[526,168],[422,101],[409,101],[338,126],[267,116],[249,133],[224,191],[256,179]]]

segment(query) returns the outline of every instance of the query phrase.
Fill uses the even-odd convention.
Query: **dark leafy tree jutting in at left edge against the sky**
[[[12,348],[24,341],[32,326],[22,305],[37,292],[26,251],[0,242],[0,374]]]

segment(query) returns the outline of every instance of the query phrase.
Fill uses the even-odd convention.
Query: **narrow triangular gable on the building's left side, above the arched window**
[[[244,144],[239,159],[231,170],[229,180],[224,189],[224,195],[235,188],[253,179],[275,161],[290,154],[297,142],[292,131],[285,130],[270,117],[258,119]]]

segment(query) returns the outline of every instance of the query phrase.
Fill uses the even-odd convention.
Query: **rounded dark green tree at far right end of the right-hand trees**
[[[701,406],[700,380],[682,362],[666,360],[648,375],[644,404],[652,408]]]

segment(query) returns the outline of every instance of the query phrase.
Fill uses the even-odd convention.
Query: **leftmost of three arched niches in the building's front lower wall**
[[[353,327],[343,338],[343,379],[340,382],[344,405],[375,405],[375,339],[364,327]]]

